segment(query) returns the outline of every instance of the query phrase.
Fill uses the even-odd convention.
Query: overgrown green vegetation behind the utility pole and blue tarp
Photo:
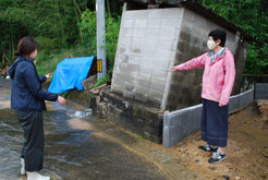
[[[122,2],[107,0],[106,9],[106,49],[112,69]],[[39,74],[53,72],[57,64],[66,57],[96,56],[95,1],[1,0],[1,67],[12,63],[17,41],[27,35],[40,44],[36,64]],[[3,55],[9,62],[2,58]],[[108,71],[107,77],[110,75],[111,71]],[[101,82],[103,80],[97,83]]]

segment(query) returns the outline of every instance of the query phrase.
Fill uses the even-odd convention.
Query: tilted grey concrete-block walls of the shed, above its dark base
[[[131,8],[130,8],[131,9]],[[203,69],[171,72],[170,68],[206,52],[208,33],[226,29],[235,56],[234,94],[247,55],[247,43],[209,19],[187,9],[127,10],[124,7],[111,91],[160,110],[200,103]]]

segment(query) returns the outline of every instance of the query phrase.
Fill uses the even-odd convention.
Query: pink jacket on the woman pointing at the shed
[[[212,63],[207,52],[176,65],[175,70],[191,70],[204,65],[202,97],[218,101],[221,105],[227,105],[232,93],[235,77],[235,65],[232,52],[226,48],[223,55],[215,59]]]

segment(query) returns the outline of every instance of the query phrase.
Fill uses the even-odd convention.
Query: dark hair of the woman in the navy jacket
[[[26,36],[21,38],[17,45],[17,50],[14,52],[15,57],[31,55],[36,49],[38,50],[39,44],[34,38]]]

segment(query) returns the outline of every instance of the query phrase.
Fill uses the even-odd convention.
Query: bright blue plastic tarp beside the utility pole
[[[82,91],[83,85],[81,82],[86,79],[94,58],[65,58],[57,65],[48,91],[51,93],[63,93],[75,87]]]

